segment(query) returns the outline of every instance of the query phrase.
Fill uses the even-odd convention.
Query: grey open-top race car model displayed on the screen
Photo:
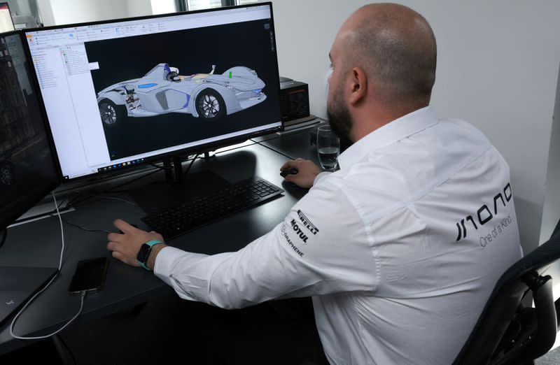
[[[158,64],[143,78],[123,81],[97,94],[102,121],[118,123],[125,116],[151,117],[165,113],[186,113],[203,120],[250,108],[267,96],[265,83],[244,66],[232,67],[221,75],[210,73],[179,76],[179,69]]]

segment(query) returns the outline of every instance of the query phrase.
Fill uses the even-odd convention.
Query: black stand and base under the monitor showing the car
[[[174,157],[173,162],[174,168],[169,159],[164,161],[165,181],[130,189],[132,199],[146,213],[157,213],[231,186],[228,180],[211,171],[188,173],[185,176],[181,159]]]

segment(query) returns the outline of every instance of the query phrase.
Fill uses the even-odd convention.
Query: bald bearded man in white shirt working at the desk
[[[353,142],[340,170],[281,167],[311,187],[269,234],[207,256],[153,246],[148,267],[184,299],[239,308],[313,296],[332,364],[451,364],[500,275],[521,257],[507,163],[430,109],[436,45],[405,6],[353,13],[330,50],[330,124]],[[162,241],[122,220],[113,256]]]

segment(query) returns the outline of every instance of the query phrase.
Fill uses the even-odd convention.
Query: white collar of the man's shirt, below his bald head
[[[412,113],[388,122],[383,127],[375,129],[367,136],[353,143],[338,157],[341,169],[345,169],[374,150],[395,143],[402,138],[412,136],[423,129],[437,124],[437,117],[431,106],[414,110]]]

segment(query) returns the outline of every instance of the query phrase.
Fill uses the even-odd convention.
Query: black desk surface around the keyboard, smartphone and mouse
[[[220,152],[209,161],[195,162],[193,172],[208,169],[231,182],[258,175],[283,187],[286,192],[278,199],[174,238],[168,242],[169,245],[190,252],[213,255],[239,250],[270,231],[307,192],[306,189],[283,183],[283,178],[279,175],[279,167],[288,160],[284,155],[290,156],[298,152],[295,145],[302,143],[304,137],[309,141],[307,131],[262,142],[266,143],[265,145],[252,144]],[[282,142],[284,140],[286,142]],[[309,142],[304,146],[308,148]],[[300,147],[303,152],[304,147]],[[311,155],[309,152],[308,156]],[[163,178],[162,172],[154,173],[131,184],[131,187]],[[127,194],[110,196],[127,199]],[[146,229],[146,225],[140,220],[142,216],[144,211],[141,208],[111,199],[85,203],[75,211],[63,215],[66,220],[87,229],[105,231],[115,231],[113,220],[117,217]],[[8,229],[8,239],[0,250],[0,266],[56,266],[61,248],[60,238],[57,217],[12,227]],[[66,247],[62,272],[49,289],[38,296],[18,319],[15,333],[20,336],[49,334],[70,320],[80,307],[79,296],[68,294],[70,280],[78,261],[92,257],[111,257],[106,249],[107,239],[104,232],[86,232],[64,223],[64,241]],[[83,313],[77,321],[92,320],[131,308],[166,290],[172,289],[152,273],[111,258],[104,289],[97,294],[86,296]],[[25,341],[13,340],[10,337],[10,322],[11,320],[0,327],[0,355],[25,345]]]

